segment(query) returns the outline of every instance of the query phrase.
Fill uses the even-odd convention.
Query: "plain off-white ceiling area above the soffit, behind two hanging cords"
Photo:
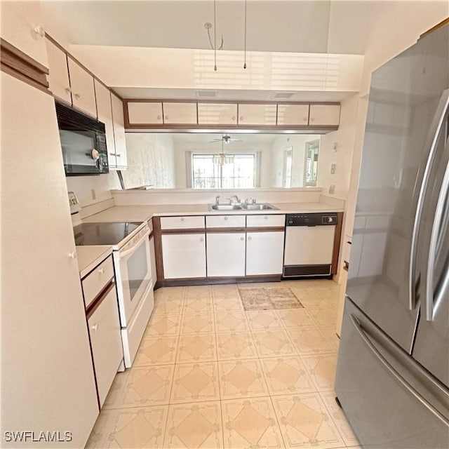
[[[385,3],[248,0],[247,49],[363,54],[368,24]],[[48,20],[65,30],[69,43],[210,49],[204,24],[214,22],[213,0],[43,0],[41,4]],[[243,0],[217,0],[217,42],[223,36],[225,50],[243,50],[244,6]]]

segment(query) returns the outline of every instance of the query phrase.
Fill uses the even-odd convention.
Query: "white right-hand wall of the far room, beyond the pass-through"
[[[302,187],[304,182],[304,157],[306,143],[321,139],[316,134],[280,134],[272,144],[272,187],[283,187],[284,150],[292,147],[292,187]],[[318,184],[317,184],[318,185]]]

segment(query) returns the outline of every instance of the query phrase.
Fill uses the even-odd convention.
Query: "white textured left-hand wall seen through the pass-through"
[[[173,137],[162,133],[126,133],[128,169],[122,172],[126,189],[154,185],[175,187]]]

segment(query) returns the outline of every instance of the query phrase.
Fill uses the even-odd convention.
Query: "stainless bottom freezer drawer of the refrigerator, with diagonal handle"
[[[448,447],[448,389],[348,298],[335,392],[363,448]]]

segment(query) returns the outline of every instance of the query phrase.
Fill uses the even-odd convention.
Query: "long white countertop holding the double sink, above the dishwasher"
[[[271,203],[272,210],[209,210],[208,204],[155,204],[152,206],[114,206],[91,215],[83,222],[147,221],[161,215],[269,215],[283,213],[342,212],[326,203]]]

